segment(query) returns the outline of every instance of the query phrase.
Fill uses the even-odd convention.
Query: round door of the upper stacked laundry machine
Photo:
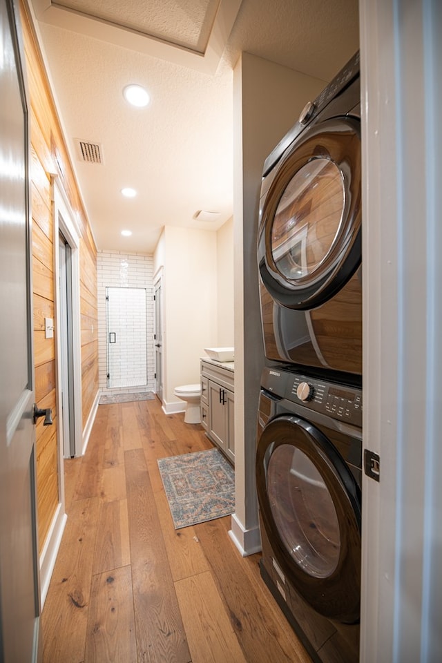
[[[260,278],[282,306],[322,305],[361,264],[360,131],[355,117],[307,128],[263,184]]]

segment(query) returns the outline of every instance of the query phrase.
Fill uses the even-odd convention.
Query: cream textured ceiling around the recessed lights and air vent
[[[231,216],[240,52],[328,81],[358,48],[357,0],[31,1],[99,249],[151,253],[165,224]],[[128,83],[149,90],[147,108],[126,104]],[[104,164],[80,162],[75,139],[101,144]],[[220,216],[195,220],[200,209]]]

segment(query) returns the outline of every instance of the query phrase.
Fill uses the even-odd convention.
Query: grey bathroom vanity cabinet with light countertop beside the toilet
[[[234,363],[201,360],[201,425],[206,435],[235,463]]]

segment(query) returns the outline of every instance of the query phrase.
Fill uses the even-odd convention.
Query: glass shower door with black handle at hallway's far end
[[[147,385],[146,288],[106,288],[108,387]]]

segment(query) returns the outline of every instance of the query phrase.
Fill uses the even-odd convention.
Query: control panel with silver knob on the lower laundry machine
[[[261,384],[279,398],[362,428],[362,390],[358,387],[279,367],[265,368]]]

